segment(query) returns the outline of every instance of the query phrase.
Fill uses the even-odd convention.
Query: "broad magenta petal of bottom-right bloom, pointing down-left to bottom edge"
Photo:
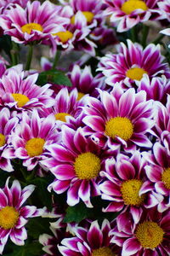
[[[139,249],[140,249],[139,241],[135,237],[129,238],[123,243],[122,256],[133,255],[137,253]]]

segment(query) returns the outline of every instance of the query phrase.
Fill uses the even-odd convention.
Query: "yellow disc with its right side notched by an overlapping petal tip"
[[[139,196],[143,182],[138,179],[129,179],[122,183],[121,193],[125,205],[139,206],[144,201],[144,195]]]

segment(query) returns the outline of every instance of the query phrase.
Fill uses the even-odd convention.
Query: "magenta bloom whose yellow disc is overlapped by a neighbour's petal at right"
[[[153,195],[147,198],[146,193],[139,194],[140,190],[145,188],[144,182],[147,179],[144,165],[144,158],[141,157],[139,151],[136,151],[132,157],[118,154],[116,160],[113,158],[106,160],[105,172],[100,172],[101,177],[106,178],[103,183],[99,184],[99,189],[102,192],[101,198],[111,201],[103,211],[122,211],[122,214],[116,218],[118,226],[122,225],[122,216],[127,216],[127,212],[129,212],[128,217],[133,219],[133,224],[137,224],[144,204],[147,201],[150,207],[155,207],[157,204]],[[130,228],[129,225],[122,229]]]

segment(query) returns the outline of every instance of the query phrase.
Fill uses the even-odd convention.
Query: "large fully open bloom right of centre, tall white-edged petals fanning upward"
[[[116,85],[111,93],[99,90],[100,101],[88,97],[87,107],[83,108],[86,117],[82,119],[87,135],[103,148],[150,148],[147,132],[154,125],[152,101],[146,101],[144,90],[135,93],[131,88],[123,92]]]

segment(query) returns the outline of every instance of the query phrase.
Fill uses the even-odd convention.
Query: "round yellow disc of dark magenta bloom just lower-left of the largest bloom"
[[[91,152],[79,154],[74,162],[74,169],[80,179],[97,177],[100,171],[99,157]]]

